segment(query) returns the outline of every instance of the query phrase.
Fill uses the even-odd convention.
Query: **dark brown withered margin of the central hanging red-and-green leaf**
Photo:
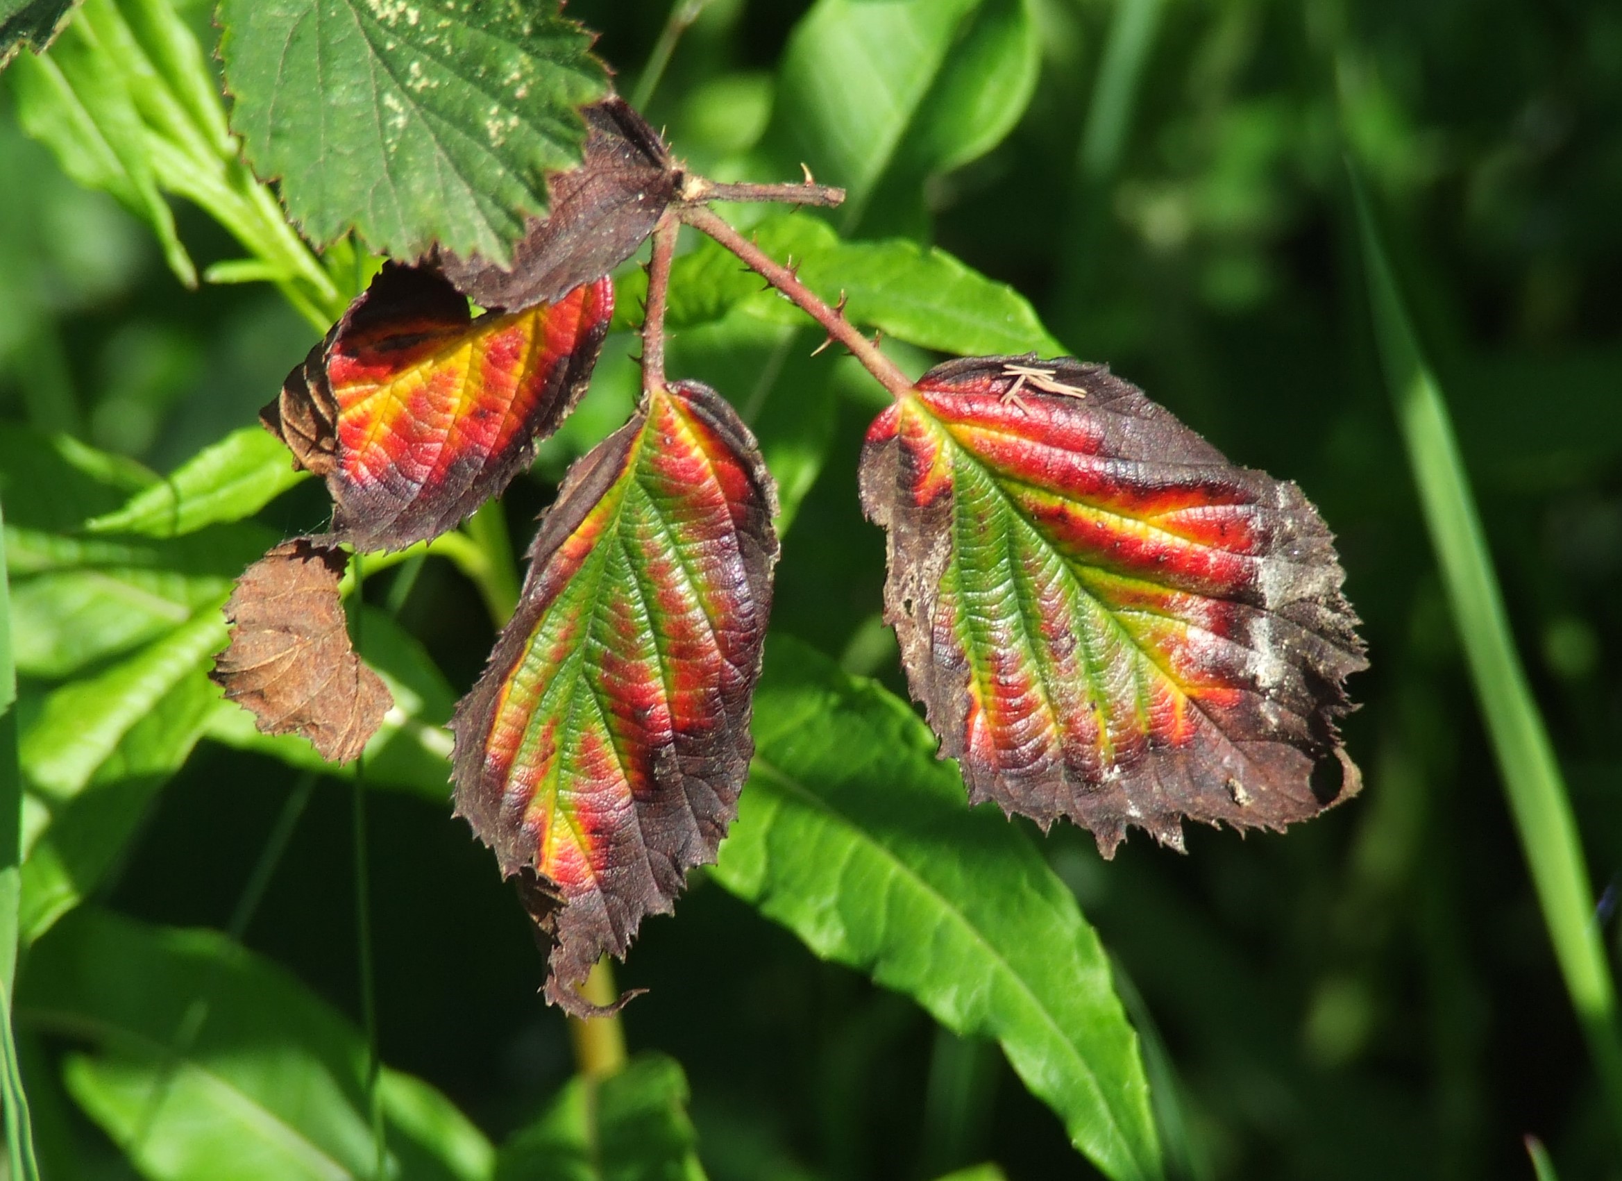
[[[725,594],[735,594],[741,599],[740,618],[732,621],[741,636],[733,641],[738,649],[736,655],[722,649],[720,641],[715,639],[717,655],[732,667],[736,680],[730,686],[704,688],[707,694],[706,714],[694,730],[683,732],[672,711],[668,738],[647,746],[647,774],[654,784],[652,793],[647,798],[633,795],[631,808],[636,818],[636,844],[642,850],[647,868],[646,879],[636,883],[636,889],[641,892],[595,887],[597,881],[610,874],[587,861],[594,889],[576,891],[571,897],[568,886],[555,881],[542,868],[545,857],[537,857],[534,834],[526,827],[527,810],[537,792],[521,790],[514,795],[509,788],[509,779],[516,774],[526,751],[514,746],[508,766],[495,767],[490,756],[491,733],[501,719],[500,711],[506,704],[506,691],[530,657],[542,628],[560,603],[568,610],[563,597],[569,584],[582,574],[589,555],[608,543],[610,529],[618,539],[624,511],[623,498],[636,485],[637,464],[654,433],[655,414],[662,409],[662,402],[668,404],[675,414],[691,415],[691,420],[712,433],[720,446],[732,453],[738,469],[736,477],[744,485],[741,490],[728,490],[720,487],[722,477],[712,474],[720,487],[723,506],[732,516],[736,547],[735,553],[730,555],[733,569],[725,573],[743,579],[741,587],[723,587]],[[586,537],[584,530],[592,513],[615,495],[620,500],[611,508],[611,524],[603,526],[595,537]],[[740,513],[743,514],[741,521]],[[623,957],[646,915],[672,910],[686,871],[715,860],[715,848],[736,814],[738,792],[748,774],[749,751],[753,749],[749,738],[753,691],[761,670],[766,620],[770,613],[770,579],[779,555],[777,535],[772,527],[775,513],[775,485],[761,459],[759,446],[736,410],[720,394],[696,381],[675,381],[665,389],[647,394],[631,422],[569,469],[556,501],[543,514],[530,545],[530,566],[519,608],[503,628],[483,676],[456,707],[451,722],[456,733],[453,753],[456,814],[467,819],[478,839],[491,847],[501,874],[519,879],[521,900],[535,921],[537,941],[548,959],[543,990],[547,999],[574,1016],[602,1012],[577,991],[592,964],[605,952]],[[681,545],[680,539],[673,537],[672,540],[676,547]],[[569,561],[577,565],[568,568]],[[684,565],[688,555],[678,555],[676,561]],[[633,578],[636,576],[633,574]],[[689,571],[688,578],[696,576]],[[641,584],[637,594],[646,595]],[[709,620],[707,608],[704,610],[710,634],[715,638],[725,628]],[[587,618],[584,626],[589,626],[594,612],[577,613],[576,621],[579,615]],[[576,629],[584,628],[577,626]],[[649,642],[655,649],[663,699],[670,699],[673,694],[668,665],[675,662],[660,651],[660,639],[659,620],[649,612]],[[569,659],[573,657],[556,657],[556,665]],[[599,657],[599,665],[602,664],[603,660]],[[574,675],[581,676],[582,673]],[[587,686],[586,691],[595,694],[597,689]],[[535,704],[521,706],[524,712],[521,725],[526,733],[534,727],[542,701],[543,698],[537,698]],[[611,727],[607,714],[603,727]],[[556,758],[561,759],[561,753]],[[615,748],[615,758],[623,759],[618,748]],[[623,767],[620,771],[621,777],[629,779]],[[561,785],[553,785],[551,793],[556,800],[561,795]],[[680,793],[680,805],[672,803],[673,793]],[[707,798],[696,800],[696,795]],[[564,808],[563,803],[555,806],[560,811]],[[668,827],[673,819],[668,813],[675,808],[686,811],[686,826],[678,826],[673,834],[654,827],[657,822]],[[660,810],[667,814],[655,814]],[[569,818],[569,822],[576,821]],[[621,819],[618,832],[623,834],[623,831]],[[615,835],[608,834],[608,840],[613,840]],[[650,835],[654,840],[649,839]],[[543,839],[550,840],[550,829]],[[590,839],[602,837],[594,831]],[[576,852],[586,858],[589,850],[584,840],[576,842]],[[586,915],[586,902],[590,902],[590,917]],[[600,915],[597,913],[599,904]],[[618,913],[611,913],[613,907],[620,908]],[[626,999],[629,994],[623,996],[618,1004]],[[618,1004],[611,1007],[618,1007]]]

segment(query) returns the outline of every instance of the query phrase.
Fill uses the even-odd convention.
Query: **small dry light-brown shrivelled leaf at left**
[[[349,642],[337,594],[347,561],[300,537],[248,566],[225,603],[230,646],[209,673],[260,730],[302,735],[328,762],[358,758],[394,706]]]

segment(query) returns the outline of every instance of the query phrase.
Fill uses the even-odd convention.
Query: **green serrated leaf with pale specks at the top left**
[[[224,0],[232,127],[328,243],[407,258],[435,242],[506,263],[543,177],[582,159],[603,97],[592,37],[555,3]]]

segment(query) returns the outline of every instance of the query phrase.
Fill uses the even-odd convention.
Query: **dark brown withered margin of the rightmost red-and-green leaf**
[[[1017,376],[1022,370],[1048,376]],[[985,722],[972,694],[976,655],[988,662],[994,662],[996,657],[970,651],[957,634],[950,633],[949,620],[942,625],[936,618],[936,607],[941,602],[942,579],[957,560],[959,534],[952,524],[957,511],[959,479],[954,474],[957,459],[967,456],[967,462],[975,464],[1004,500],[1007,500],[1006,483],[1019,483],[1022,479],[1038,480],[1041,472],[999,475],[994,464],[954,436],[950,425],[936,417],[936,409],[925,404],[923,399],[931,394],[988,396],[998,404],[1012,399],[1027,415],[1030,409],[1025,407],[1025,401],[1028,401],[1043,414],[1064,420],[1067,427],[1080,428],[1079,423],[1087,423],[1088,430],[1098,433],[1095,440],[1098,459],[1121,461],[1144,469],[1140,485],[1121,483],[1129,493],[1152,487],[1155,479],[1169,479],[1166,472],[1176,472],[1179,479],[1194,479],[1204,472],[1210,479],[1220,475],[1231,480],[1236,495],[1249,496],[1234,505],[1270,513],[1265,519],[1265,550],[1255,558],[1254,586],[1226,592],[1192,590],[1202,603],[1223,603],[1236,615],[1242,615],[1241,608],[1255,612],[1257,631],[1252,633],[1251,618],[1241,618],[1238,626],[1242,628],[1242,641],[1234,641],[1246,647],[1247,659],[1255,657],[1255,668],[1241,668],[1234,681],[1239,685],[1238,699],[1244,699],[1246,694],[1255,698],[1252,711],[1255,717],[1242,714],[1234,706],[1216,719],[1192,694],[1182,694],[1186,704],[1194,706],[1199,715],[1194,717],[1189,733],[1174,737],[1174,741],[1156,737],[1153,725],[1145,724],[1140,749],[1127,751],[1118,759],[1113,741],[1106,737],[1109,749],[1098,751],[1103,766],[1090,769],[1072,758],[1067,735],[1059,733],[1053,738],[1059,754],[1046,758],[1046,764],[1038,754],[1032,756],[1028,766],[1011,767],[1004,758],[1006,751],[998,748],[994,725]],[[936,467],[944,462],[947,470],[921,474],[910,469],[910,464],[918,461],[899,433],[902,415],[908,412],[925,415],[939,428],[941,453],[929,462]],[[1049,422],[1053,420],[1049,417]],[[1030,438],[1020,436],[1019,441],[1032,444]],[[1062,443],[1053,446],[1062,448]],[[1072,451],[1066,457],[1082,459],[1093,454]],[[920,479],[928,479],[933,492],[926,503],[915,505],[908,483]],[[1152,402],[1137,386],[1111,375],[1108,367],[1087,365],[1074,359],[1041,360],[1035,354],[970,357],[938,365],[918,380],[908,399],[874,422],[863,446],[860,480],[868,517],[881,524],[887,534],[886,621],[895,626],[908,685],[913,696],[925,704],[931,728],[941,738],[941,756],[959,759],[972,801],[996,800],[1006,813],[1030,816],[1043,827],[1061,816],[1069,816],[1088,827],[1100,850],[1109,857],[1131,826],[1144,827],[1161,844],[1181,848],[1184,818],[1210,824],[1226,822],[1241,831],[1246,827],[1280,831],[1289,822],[1315,816],[1361,788],[1361,774],[1340,743],[1337,719],[1351,709],[1345,678],[1367,667],[1367,660],[1362,655],[1362,641],[1356,636],[1358,618],[1340,590],[1345,573],[1335,556],[1333,539],[1317,509],[1294,483],[1229,464],[1216,448]],[[1053,492],[1048,485],[1028,487]],[[1061,487],[1056,495],[1072,493]],[[1080,498],[1079,503],[1087,501]],[[1202,508],[1199,503],[1195,506]],[[1105,508],[1108,509],[1108,501]],[[1035,532],[1046,547],[1045,553],[1080,587],[1074,565],[1088,563],[1080,558],[1072,561],[1064,555],[1054,537],[1043,532],[1043,526],[1012,501],[1006,511],[1011,521],[1022,522]],[[1278,530],[1277,537],[1273,529]],[[1163,556],[1158,560],[1165,561]],[[1017,582],[1019,568],[1014,560],[1004,555],[1004,561],[1009,579]],[[1106,569],[1101,563],[1092,563],[1090,568]],[[1126,569],[1131,571],[1131,566]],[[1156,568],[1155,574],[1163,574],[1163,569]],[[1169,578],[1160,581],[1148,578],[1147,582],[1155,589],[1189,590],[1191,587],[1178,587],[1174,579],[1179,576],[1173,571]],[[1241,599],[1242,594],[1251,594],[1257,600],[1251,603]],[[1096,605],[1111,618],[1116,616],[1116,610],[1105,599],[1098,599]],[[970,608],[965,612],[972,615]],[[1053,662],[1051,654],[1059,644],[1059,639],[1048,634],[1048,623],[1051,621],[1043,618],[1033,623],[1022,610],[1027,633],[1043,633],[1043,647],[1033,647],[1038,673],[1043,672],[1041,657]],[[1072,621],[1064,618],[1054,626],[1061,639],[1067,636],[1069,644],[1075,647],[1079,646],[1075,631],[1085,631],[1085,625],[1074,631],[1071,625]],[[1286,633],[1277,641],[1275,626]],[[1135,638],[1129,642],[1137,646],[1140,655],[1148,654]],[[1160,672],[1168,683],[1174,683],[1169,672]],[[1309,707],[1288,715],[1294,706],[1285,699],[1285,691],[1278,686],[1296,673],[1301,685],[1291,683],[1289,689],[1298,701],[1306,694]],[[993,676],[1002,688],[1002,675]],[[1059,730],[1071,720],[1059,712],[1066,702],[1048,701],[1045,683],[1041,691],[1054,714],[1054,728]],[[1178,693],[1182,693],[1182,686],[1178,686]],[[1090,724],[1108,735],[1109,719],[1101,717],[1096,696],[1088,701],[1093,709]],[[1113,702],[1106,699],[1105,704]],[[976,727],[973,733],[972,725]],[[1340,784],[1333,790],[1324,782],[1314,782],[1315,766],[1328,766],[1330,758],[1338,762],[1340,774]]]

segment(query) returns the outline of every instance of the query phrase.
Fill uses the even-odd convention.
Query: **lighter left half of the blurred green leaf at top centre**
[[[782,170],[805,162],[855,224],[978,0],[819,0],[795,26],[766,131]]]

